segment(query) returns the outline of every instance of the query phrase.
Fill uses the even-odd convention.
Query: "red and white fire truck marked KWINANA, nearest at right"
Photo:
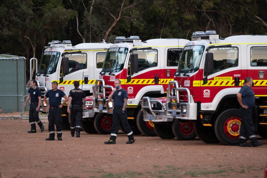
[[[238,145],[242,118],[237,93],[250,76],[255,83],[255,129],[267,138],[266,70],[266,35],[219,39],[215,31],[196,32],[184,47],[167,97],[142,99],[144,121],[166,135],[171,131],[162,125],[191,121],[200,140]]]

